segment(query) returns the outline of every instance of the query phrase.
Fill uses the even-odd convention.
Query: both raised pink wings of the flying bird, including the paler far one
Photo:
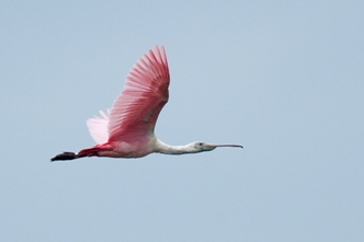
[[[110,114],[88,120],[92,138],[104,143],[151,134],[168,102],[169,79],[164,48],[155,46],[132,68]]]

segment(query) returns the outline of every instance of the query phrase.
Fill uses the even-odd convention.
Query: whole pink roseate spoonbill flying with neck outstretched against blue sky
[[[168,102],[169,69],[164,48],[155,46],[144,55],[126,77],[125,88],[107,113],[87,120],[90,134],[98,145],[78,153],[62,152],[54,158],[73,160],[83,157],[141,158],[152,152],[168,154],[197,153],[217,147],[192,142],[169,146],[155,136],[158,115]]]

